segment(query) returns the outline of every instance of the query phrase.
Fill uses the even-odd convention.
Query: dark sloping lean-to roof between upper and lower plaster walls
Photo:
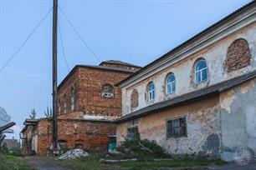
[[[234,77],[230,80],[220,82],[218,84],[215,84],[215,85],[212,85],[209,87],[204,87],[195,92],[188,92],[186,94],[182,94],[181,96],[174,97],[174,98],[166,100],[164,102],[157,102],[148,107],[144,107],[135,112],[126,114],[124,117],[120,117],[120,119],[117,119],[114,122],[118,123],[118,122],[129,121],[134,118],[142,117],[142,116],[148,115],[153,112],[165,110],[169,107],[176,107],[176,106],[179,106],[182,104],[186,104],[188,102],[194,102],[194,101],[200,100],[205,97],[211,97],[214,95],[218,95],[219,92],[223,92],[223,91],[227,90],[228,88],[237,86],[238,84],[240,84],[242,82],[246,82],[246,81],[252,79],[253,77],[256,77],[256,71],[249,72],[247,74],[243,74],[240,77]]]

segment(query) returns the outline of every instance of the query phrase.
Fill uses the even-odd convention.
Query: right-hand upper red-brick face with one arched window
[[[116,116],[121,113],[121,91],[115,87],[125,77],[126,72],[109,72],[90,68],[79,68],[79,90],[77,107],[85,114]],[[114,87],[114,97],[102,97],[101,90],[105,84]]]

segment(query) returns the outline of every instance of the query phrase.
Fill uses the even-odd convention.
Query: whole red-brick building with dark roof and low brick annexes
[[[121,115],[121,91],[115,84],[141,67],[120,61],[77,65],[58,87],[58,140],[62,150],[106,149],[115,136],[112,120]],[[23,154],[44,155],[52,143],[52,119],[26,120]]]

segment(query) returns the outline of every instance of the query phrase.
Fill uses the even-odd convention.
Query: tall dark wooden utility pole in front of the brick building
[[[58,0],[54,0],[53,12],[53,151],[58,151],[58,119],[57,119],[57,22]]]

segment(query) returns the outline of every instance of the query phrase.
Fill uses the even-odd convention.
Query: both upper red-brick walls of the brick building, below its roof
[[[115,84],[130,75],[130,72],[79,67],[59,88],[60,113],[64,114],[64,100],[67,103],[67,113],[71,112],[71,88],[74,87],[76,108],[74,111],[90,115],[120,115],[121,91],[120,87],[115,87]],[[101,90],[105,84],[114,87],[114,97],[102,97]]]

